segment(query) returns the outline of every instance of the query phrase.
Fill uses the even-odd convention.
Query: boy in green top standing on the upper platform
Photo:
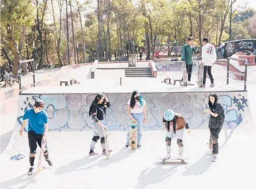
[[[187,44],[185,44],[182,48],[182,55],[181,60],[186,63],[186,73],[188,74],[187,77],[187,84],[188,85],[194,85],[191,82],[191,74],[192,74],[192,68],[193,68],[193,52],[198,51],[197,45],[195,45],[195,39],[193,37],[189,37],[187,39]],[[183,83],[183,77],[182,77],[182,86],[185,86]]]

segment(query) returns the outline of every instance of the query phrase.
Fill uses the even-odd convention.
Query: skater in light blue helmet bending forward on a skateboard
[[[182,159],[184,151],[183,134],[185,128],[187,129],[187,132],[190,133],[188,123],[181,114],[174,113],[172,110],[167,110],[163,116],[163,126],[167,130],[167,133],[165,134],[167,155],[164,159],[171,158],[171,140],[175,137],[177,138],[177,144],[179,146],[179,158]]]

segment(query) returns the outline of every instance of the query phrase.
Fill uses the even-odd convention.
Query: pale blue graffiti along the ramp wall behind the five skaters
[[[181,113],[191,128],[207,128],[209,114],[204,110],[208,108],[208,95],[206,93],[144,93],[147,103],[147,123],[143,130],[162,129],[163,113],[172,109]],[[250,115],[246,96],[237,93],[219,93],[219,100],[225,108],[225,126],[237,128],[244,118]],[[108,94],[112,107],[107,110],[103,122],[109,130],[128,130],[127,102],[130,94]],[[86,131],[92,129],[91,117],[88,110],[95,98],[94,94],[67,94],[67,95],[29,95],[20,96],[17,121],[22,124],[25,111],[33,108],[36,99],[45,102],[44,110],[49,116],[50,131]],[[28,129],[28,125],[25,126]]]

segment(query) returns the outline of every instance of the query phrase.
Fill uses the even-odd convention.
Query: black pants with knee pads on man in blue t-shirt
[[[37,149],[37,144],[41,148],[42,146],[42,140],[43,140],[43,134],[36,134],[34,131],[28,131],[28,145],[29,145],[29,163],[31,166],[34,165],[35,161],[35,153]],[[45,148],[46,151],[44,151],[43,156],[45,159],[48,159],[48,150],[47,150],[47,142],[45,141]],[[33,157],[31,157],[33,156]]]

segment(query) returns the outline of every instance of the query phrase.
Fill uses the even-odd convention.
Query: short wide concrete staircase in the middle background
[[[125,69],[126,77],[153,77],[151,67],[129,67]]]

